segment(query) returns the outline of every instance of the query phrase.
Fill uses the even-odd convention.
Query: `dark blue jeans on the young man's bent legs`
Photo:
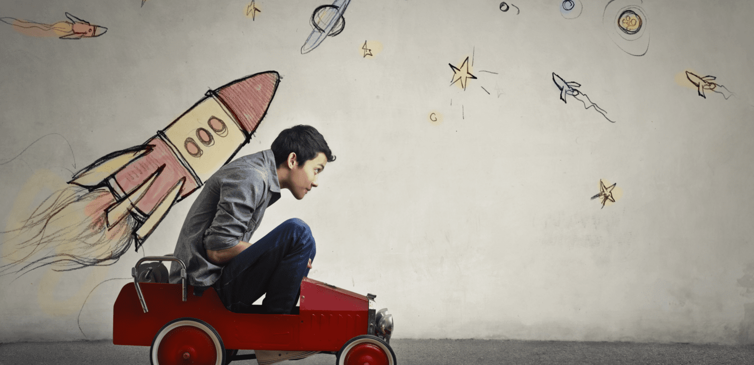
[[[299,300],[301,280],[309,273],[307,263],[316,253],[309,226],[288,219],[231,259],[213,287],[231,311],[250,311],[266,293],[265,313],[290,314]]]

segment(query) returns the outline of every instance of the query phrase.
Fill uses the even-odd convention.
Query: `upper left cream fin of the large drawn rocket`
[[[112,152],[76,173],[68,183],[84,188],[103,185],[103,181],[109,176],[118,173],[121,168],[151,151],[152,145],[143,145]]]

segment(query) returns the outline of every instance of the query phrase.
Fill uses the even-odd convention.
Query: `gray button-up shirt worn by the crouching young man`
[[[246,155],[207,179],[183,222],[173,255],[186,264],[190,285],[209,286],[222,266],[207,259],[207,250],[250,242],[265,209],[280,198],[280,182],[271,149]],[[180,265],[170,266],[170,281],[180,282]]]

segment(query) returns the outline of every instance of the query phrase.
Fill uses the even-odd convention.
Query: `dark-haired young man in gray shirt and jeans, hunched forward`
[[[316,253],[311,230],[301,219],[288,219],[258,241],[250,238],[280,189],[304,198],[332,161],[323,136],[297,125],[280,132],[271,149],[231,161],[210,176],[173,253],[185,262],[189,284],[214,287],[231,311],[248,311],[266,293],[265,313],[290,314]],[[173,262],[173,281],[179,273]]]

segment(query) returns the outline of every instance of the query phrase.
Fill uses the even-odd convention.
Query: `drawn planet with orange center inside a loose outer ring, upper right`
[[[632,56],[644,56],[647,53],[648,24],[644,9],[632,4],[631,0],[610,0],[602,13],[602,26],[611,41]]]

